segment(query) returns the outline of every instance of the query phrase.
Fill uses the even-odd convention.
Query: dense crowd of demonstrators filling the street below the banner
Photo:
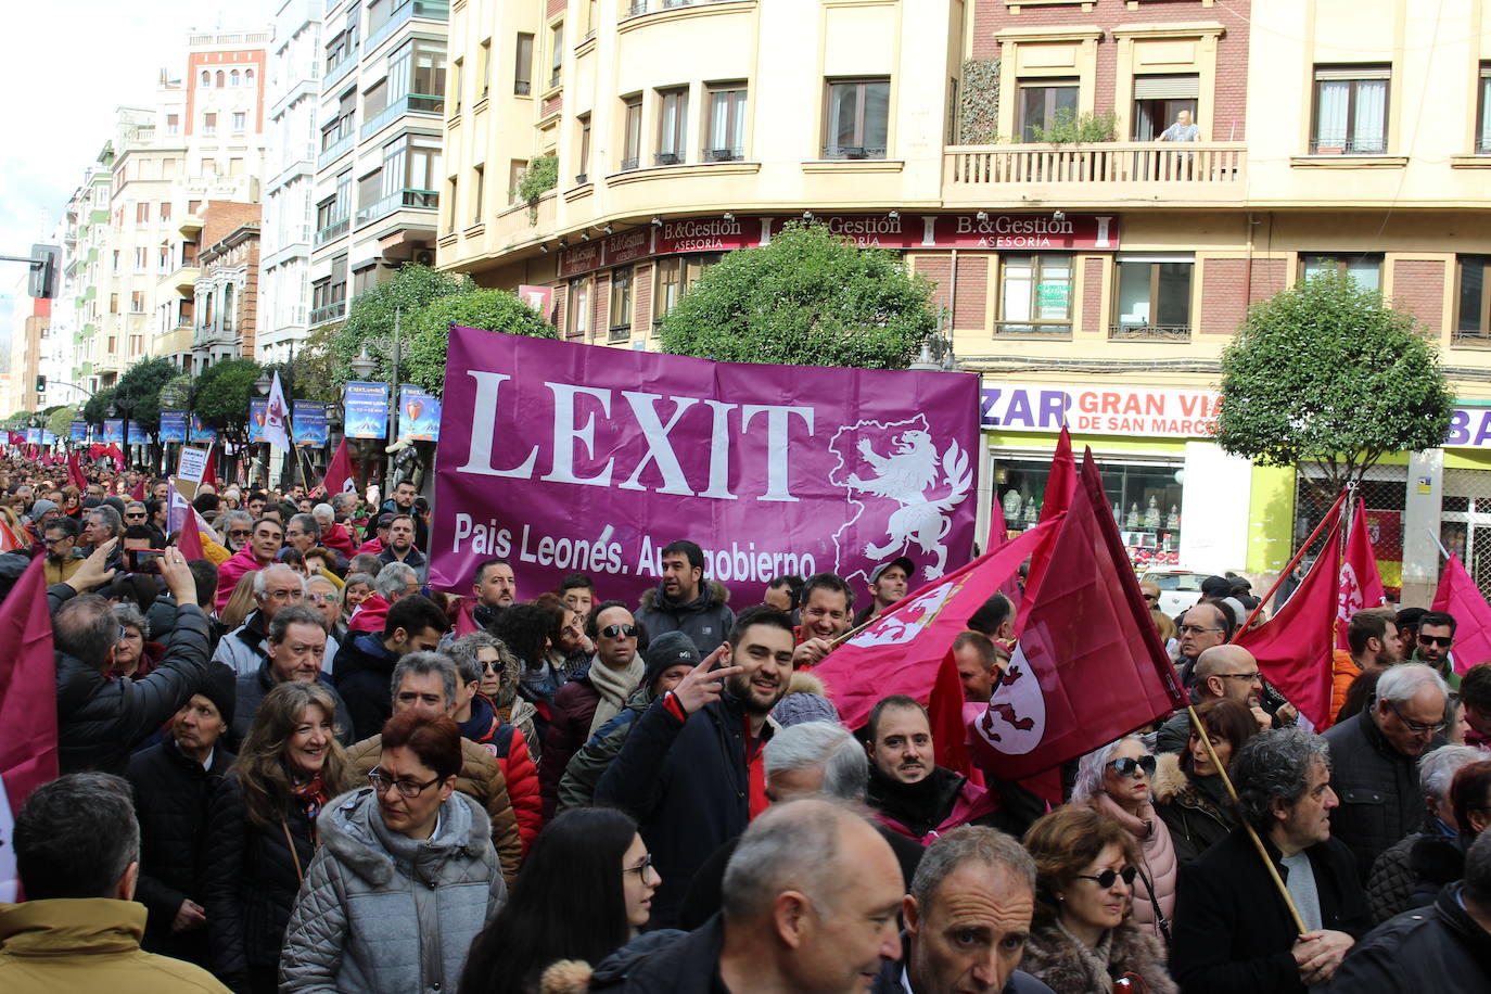
[[[1351,618],[1311,729],[1232,644],[1245,581],[1144,587],[1193,708],[1053,796],[938,765],[915,697],[839,720],[813,668],[908,559],[731,605],[678,539],[640,602],[502,559],[446,593],[409,481],[201,487],[188,560],[168,481],[88,474],[0,466],[61,770],[0,839],[0,990],[1491,990],[1491,662],[1451,615]],[[1017,621],[966,620],[966,702]]]

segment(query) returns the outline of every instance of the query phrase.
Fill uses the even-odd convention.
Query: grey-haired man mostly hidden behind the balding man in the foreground
[[[804,721],[781,729],[766,742],[762,765],[766,767],[766,797],[774,805],[799,797],[832,797],[851,803],[865,800],[869,759],[865,747],[836,721]],[[875,829],[890,843],[910,888],[923,846],[884,826],[877,824]],[[698,928],[720,909],[725,864],[738,843],[740,838],[735,838],[722,845],[693,875],[678,911],[681,928]]]

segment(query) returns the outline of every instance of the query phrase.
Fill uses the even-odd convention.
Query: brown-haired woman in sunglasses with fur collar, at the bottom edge
[[[1035,917],[1020,969],[1056,994],[1173,994],[1164,945],[1135,924],[1139,846],[1114,818],[1074,803],[1026,832]]]

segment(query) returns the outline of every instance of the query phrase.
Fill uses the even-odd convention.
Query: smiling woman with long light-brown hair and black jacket
[[[212,969],[236,991],[274,991],[285,925],[316,852],[316,815],[353,787],[337,705],[318,683],[259,703],[207,812],[204,903]]]

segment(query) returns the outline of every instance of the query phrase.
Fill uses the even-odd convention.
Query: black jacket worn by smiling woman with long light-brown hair
[[[228,773],[209,805],[203,885],[212,972],[224,984],[246,990],[249,970],[279,964],[300,878],[315,854],[310,821],[298,808],[283,823],[258,826],[249,821],[237,773]]]

